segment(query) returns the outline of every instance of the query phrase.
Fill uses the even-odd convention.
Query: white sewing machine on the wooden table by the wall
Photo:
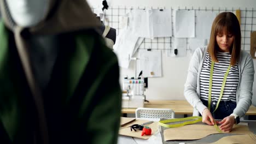
[[[140,77],[139,77],[140,78]],[[147,87],[147,78],[141,79],[128,79],[127,77],[123,80],[123,97],[122,107],[123,108],[137,108],[144,107],[144,101],[146,96],[144,91]]]

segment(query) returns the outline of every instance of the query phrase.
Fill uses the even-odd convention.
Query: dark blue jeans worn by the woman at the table
[[[208,106],[207,100],[202,100],[203,105]],[[234,109],[236,108],[236,103],[234,103],[231,100],[228,101],[220,101],[219,106],[217,110],[213,113],[215,110],[215,107],[217,106],[217,101],[211,101],[211,113],[214,119],[223,119],[227,116],[229,116],[231,113],[233,113]]]

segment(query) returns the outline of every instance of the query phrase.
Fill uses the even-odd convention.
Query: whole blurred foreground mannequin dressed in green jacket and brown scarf
[[[117,143],[118,59],[88,3],[1,0],[0,8],[0,143]]]

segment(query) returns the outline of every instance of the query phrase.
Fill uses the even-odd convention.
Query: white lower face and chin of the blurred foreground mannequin
[[[50,0],[5,0],[15,23],[22,27],[39,23],[48,8]]]

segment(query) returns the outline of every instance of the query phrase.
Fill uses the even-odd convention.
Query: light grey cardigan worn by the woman
[[[199,112],[207,108],[200,100],[200,73],[203,61],[206,57],[207,47],[199,47],[195,50],[188,68],[187,81],[184,87],[184,96],[194,107],[193,116],[199,116]],[[236,108],[233,111],[239,117],[245,115],[252,104],[252,87],[254,80],[253,59],[246,51],[241,51],[238,61],[239,82],[236,90]]]

